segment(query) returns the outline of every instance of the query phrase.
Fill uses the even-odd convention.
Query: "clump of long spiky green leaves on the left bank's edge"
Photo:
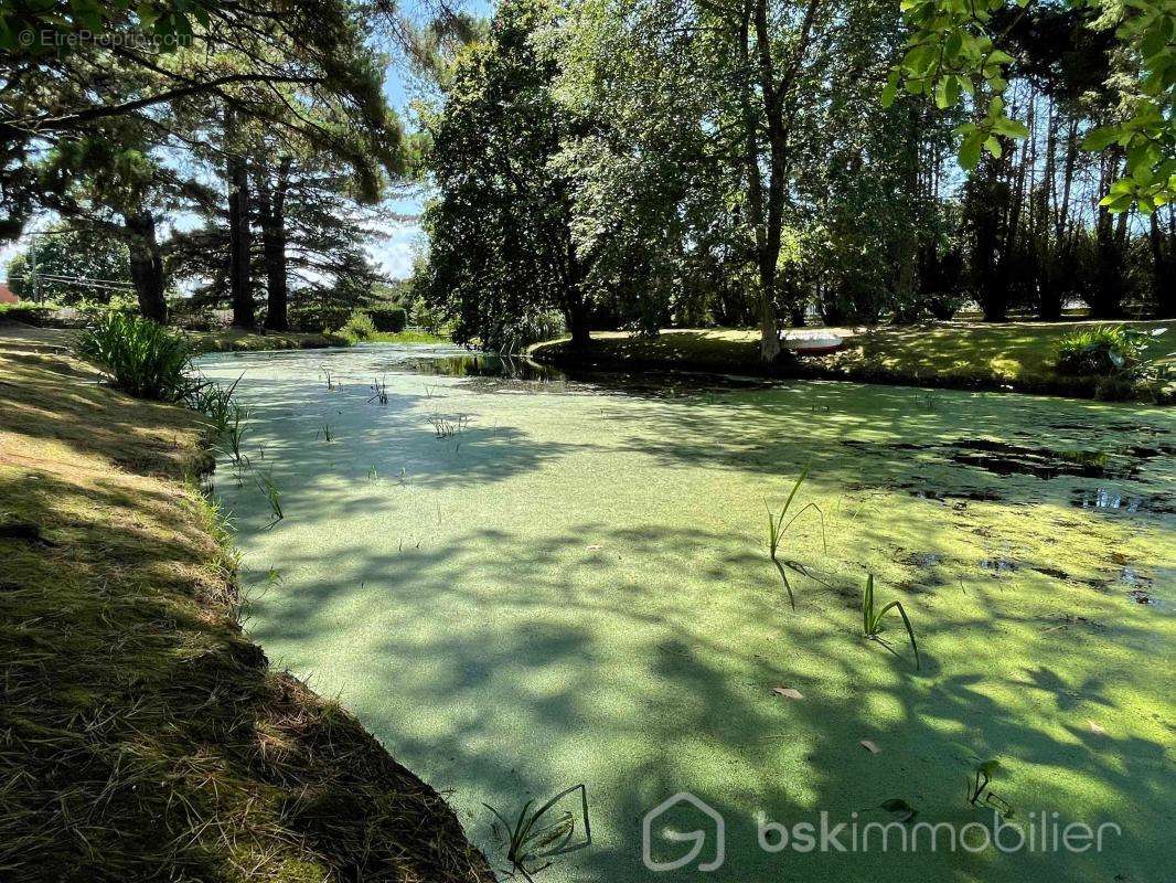
[[[108,312],[78,336],[78,353],[136,398],[178,401],[192,390],[187,339],[151,319]]]

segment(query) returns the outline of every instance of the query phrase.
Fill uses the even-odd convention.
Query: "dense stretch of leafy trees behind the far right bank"
[[[1000,49],[936,49],[941,6],[505,0],[433,55],[415,290],[492,347],[557,311],[581,343],[757,325],[769,359],[813,316],[1176,314],[1176,65],[1131,42],[1170,11],[994,1],[960,29]],[[1168,128],[1131,99],[1156,65]]]

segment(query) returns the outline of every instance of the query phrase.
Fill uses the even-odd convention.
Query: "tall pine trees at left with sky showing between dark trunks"
[[[390,11],[5,4],[0,234],[51,214],[91,251],[118,244],[118,278],[161,321],[179,280],[191,304],[228,305],[241,327],[346,313],[380,280],[366,206],[402,177],[408,150],[368,39]]]

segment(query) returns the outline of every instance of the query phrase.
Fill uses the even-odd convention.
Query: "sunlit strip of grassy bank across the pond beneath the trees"
[[[969,323],[926,327],[830,328],[848,338],[843,350],[828,356],[784,359],[764,366],[759,360],[759,332],[743,330],[671,330],[656,338],[600,332],[587,353],[569,341],[540,344],[539,361],[588,364],[596,367],[656,367],[828,378],[974,390],[1016,390],[1093,398],[1095,378],[1063,377],[1053,365],[1057,343],[1083,327],[1107,323]],[[1141,328],[1171,323],[1128,323]],[[1150,344],[1150,357],[1176,348],[1176,331]]]

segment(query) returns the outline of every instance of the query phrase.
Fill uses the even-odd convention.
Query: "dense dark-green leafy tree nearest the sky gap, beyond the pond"
[[[573,241],[572,182],[554,161],[574,119],[552,92],[559,60],[541,39],[557,14],[547,0],[503,2],[426,119],[439,198],[413,290],[452,318],[457,343],[509,350],[549,310],[587,332],[587,261]],[[413,320],[430,324],[415,305]]]

